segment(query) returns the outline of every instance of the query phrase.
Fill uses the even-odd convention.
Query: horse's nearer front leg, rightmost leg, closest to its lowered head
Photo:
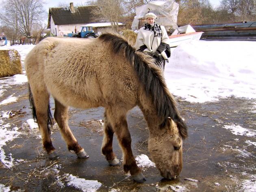
[[[141,173],[141,169],[137,166],[135,158],[132,154],[132,139],[128,130],[126,114],[120,114],[120,111],[118,111],[118,113],[113,113],[112,110],[107,110],[107,116],[111,122],[115,134],[117,135],[119,145],[123,151],[124,171],[126,173],[130,171],[132,178],[137,182],[145,181],[146,179]]]

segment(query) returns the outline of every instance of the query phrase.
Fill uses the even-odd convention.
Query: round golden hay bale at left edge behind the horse
[[[0,50],[0,78],[22,74],[20,54],[17,50]]]

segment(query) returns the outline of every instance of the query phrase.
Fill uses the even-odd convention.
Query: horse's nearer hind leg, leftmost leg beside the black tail
[[[33,84],[30,84],[30,88],[33,95],[30,95],[30,99],[32,99],[31,104],[33,105],[33,108],[35,108],[36,119],[42,136],[43,148],[47,151],[49,159],[56,159],[58,155],[52,145],[50,130],[48,130],[48,121],[49,118],[51,118],[48,114],[50,95],[43,85],[33,87]]]

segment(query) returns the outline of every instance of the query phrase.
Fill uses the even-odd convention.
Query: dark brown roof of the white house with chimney
[[[50,7],[48,15],[48,26],[50,28],[51,16],[55,25],[88,24],[99,22],[99,18],[93,15],[98,6],[77,6],[72,13],[69,7]]]

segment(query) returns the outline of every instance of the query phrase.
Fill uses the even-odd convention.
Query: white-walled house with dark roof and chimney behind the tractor
[[[99,22],[100,18],[93,15],[98,6],[74,6],[71,2],[69,7],[51,7],[48,15],[48,26],[54,36],[63,36],[75,32],[80,26]]]

